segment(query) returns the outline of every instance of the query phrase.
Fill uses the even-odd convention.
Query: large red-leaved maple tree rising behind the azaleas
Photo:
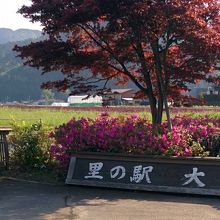
[[[41,22],[47,39],[15,50],[43,73],[63,72],[49,89],[100,93],[110,79],[131,80],[149,98],[153,125],[165,105],[171,127],[168,97],[219,82],[219,9],[218,0],[32,0],[19,12]]]

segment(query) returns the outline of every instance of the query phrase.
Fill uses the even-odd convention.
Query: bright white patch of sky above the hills
[[[41,30],[39,23],[33,24],[21,14],[16,13],[22,5],[30,4],[30,0],[0,0],[0,28]]]

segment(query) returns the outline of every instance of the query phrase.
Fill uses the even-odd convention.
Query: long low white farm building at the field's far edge
[[[101,96],[90,96],[87,95],[75,95],[69,96],[67,102],[70,106],[101,106],[102,97]]]

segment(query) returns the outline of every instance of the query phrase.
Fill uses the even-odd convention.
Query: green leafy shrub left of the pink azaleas
[[[10,165],[20,171],[49,168],[51,165],[49,128],[37,122],[13,123],[9,137],[11,145]]]

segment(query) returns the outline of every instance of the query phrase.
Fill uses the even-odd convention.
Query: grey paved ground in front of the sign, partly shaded
[[[1,220],[219,220],[220,198],[0,178]]]

